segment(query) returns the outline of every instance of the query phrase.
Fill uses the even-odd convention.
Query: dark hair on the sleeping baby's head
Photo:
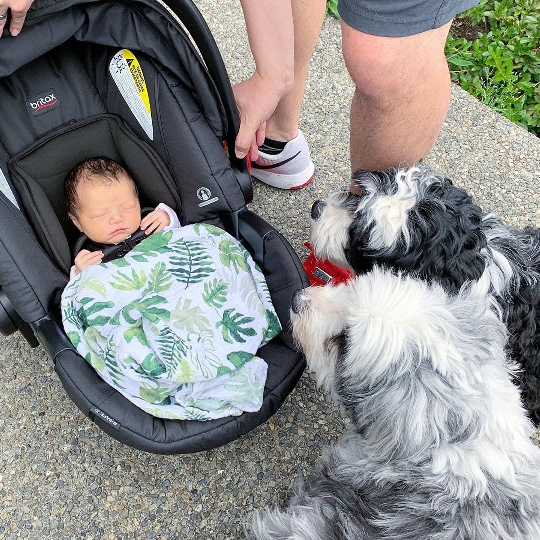
[[[75,217],[79,215],[78,189],[83,182],[109,185],[126,178],[131,181],[135,194],[138,196],[137,185],[134,183],[131,174],[116,161],[109,158],[92,158],[79,163],[71,170],[64,182],[68,214]]]

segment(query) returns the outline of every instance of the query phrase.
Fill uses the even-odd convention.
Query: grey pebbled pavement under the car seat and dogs
[[[197,4],[231,80],[247,77],[253,61],[238,0]],[[352,93],[339,24],[329,18],[301,118],[317,176],[298,192],[256,183],[251,205],[302,259],[311,205],[348,185]],[[540,226],[540,140],[458,87],[427,163],[510,224]],[[0,336],[0,415],[0,540],[242,538],[253,512],[283,503],[296,478],[348,424],[304,375],[279,413],[239,441],[190,456],[144,454],[80,414],[43,349],[31,350],[18,335]]]

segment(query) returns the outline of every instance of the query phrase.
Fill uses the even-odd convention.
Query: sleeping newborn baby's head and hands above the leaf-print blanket
[[[141,219],[137,186],[112,159],[93,158],[77,165],[65,180],[65,193],[70,219],[97,244],[119,244],[139,228],[151,234],[180,226],[176,213],[163,203]],[[71,278],[102,260],[102,251],[83,249],[75,258]]]

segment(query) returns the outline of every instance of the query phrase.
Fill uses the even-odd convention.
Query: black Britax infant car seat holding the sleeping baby
[[[226,444],[259,426],[305,369],[288,310],[308,286],[291,246],[247,209],[252,181],[234,148],[239,120],[225,66],[191,0],[37,0],[17,38],[0,40],[0,331],[49,353],[66,392],[118,441],[155,454]],[[192,44],[192,40],[198,50]],[[136,181],[143,206],[181,224],[224,228],[266,275],[284,331],[258,355],[269,366],[257,413],[199,422],[146,414],[106,384],[67,339],[60,297],[79,232],[64,178],[106,156]]]

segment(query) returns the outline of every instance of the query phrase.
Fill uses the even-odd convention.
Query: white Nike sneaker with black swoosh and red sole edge
[[[259,159],[251,167],[252,177],[280,190],[299,190],[315,176],[309,146],[300,130],[279,154],[267,154],[259,148]]]

